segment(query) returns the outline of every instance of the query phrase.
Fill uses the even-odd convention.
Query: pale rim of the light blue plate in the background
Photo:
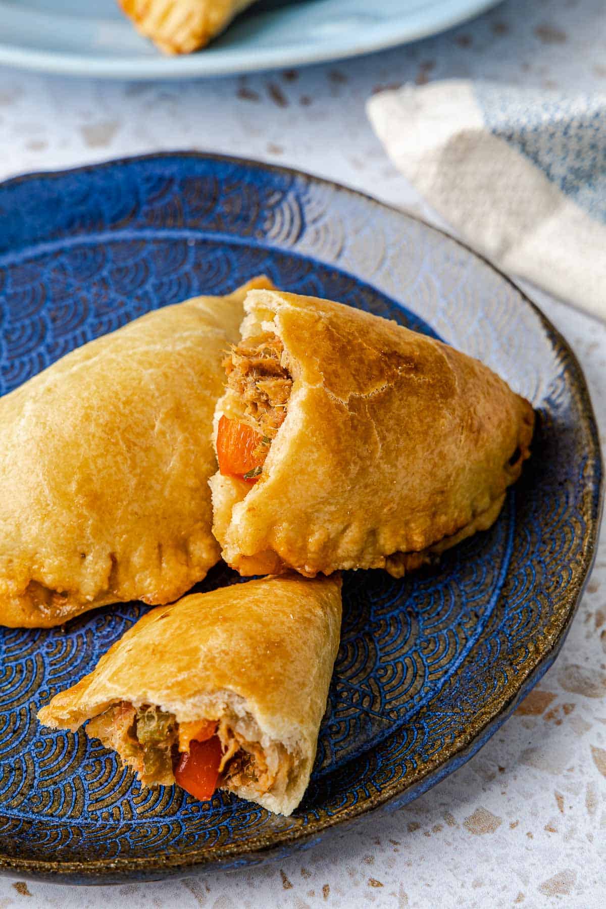
[[[215,48],[204,53],[204,48],[195,54],[170,57],[157,56],[114,58],[104,55],[66,54],[60,51],[28,50],[24,47],[0,42],[0,65],[37,73],[54,75],[94,77],[101,79],[189,79],[238,73],[258,73],[268,70],[292,69],[293,66],[308,66],[329,63],[351,57],[373,54],[398,45],[410,44],[432,35],[439,35],[457,25],[488,12],[502,0],[451,0],[456,4],[446,15],[433,15],[418,25],[410,23],[411,15],[403,15],[394,22],[371,25],[363,38],[353,44],[352,39],[341,39],[333,44],[314,45],[308,43],[298,50],[288,48],[267,48],[262,54],[251,46],[248,50]],[[442,4],[441,4],[442,5]],[[413,16],[423,15],[422,10],[413,11]],[[408,21],[408,25],[407,25]],[[401,25],[397,25],[397,23]],[[212,45],[211,45],[212,47]]]

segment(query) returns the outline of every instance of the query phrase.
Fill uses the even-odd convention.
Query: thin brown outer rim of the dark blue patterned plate
[[[363,802],[350,806],[350,808],[345,809],[343,812],[335,814],[332,817],[324,817],[321,820],[313,822],[313,824],[311,824],[311,826],[313,826],[312,830],[294,828],[291,831],[276,831],[271,839],[263,834],[253,836],[248,841],[250,846],[248,846],[248,843],[224,845],[217,847],[213,854],[208,854],[203,848],[200,851],[193,851],[187,854],[167,855],[162,859],[152,857],[118,857],[114,859],[93,859],[90,862],[21,859],[0,853],[0,875],[15,876],[15,874],[20,874],[28,880],[45,880],[55,884],[119,884],[124,883],[126,880],[166,880],[196,873],[204,873],[209,870],[222,870],[224,867],[235,870],[233,860],[238,857],[242,859],[242,863],[246,866],[261,864],[264,861],[272,859],[277,860],[285,855],[290,855],[313,847],[322,835],[333,834],[337,829],[343,831],[343,829],[351,827],[353,824],[362,823],[364,818],[369,814],[373,814],[379,810],[389,809],[390,807],[394,809],[403,804],[412,802],[419,795],[432,788],[433,785],[441,782],[442,779],[450,775],[455,769],[458,769],[462,764],[465,764],[474,754],[476,754],[482,746],[492,738],[492,735],[497,732],[502,724],[505,723],[516,709],[517,705],[527,696],[534,685],[541,680],[542,675],[551,667],[551,664],[553,664],[560,653],[561,647],[570,631],[571,623],[591,576],[591,569],[597,554],[604,502],[603,456],[601,453],[598,426],[591,403],[591,394],[581,364],[566,338],[561,335],[561,332],[551,323],[551,320],[544,315],[540,306],[535,304],[512,278],[508,275],[504,275],[488,258],[477,253],[471,246],[448,234],[447,231],[431,225],[421,217],[405,212],[395,205],[382,202],[373,195],[364,193],[362,190],[337,183],[331,179],[313,175],[298,168],[274,165],[253,158],[239,157],[237,155],[215,154],[214,152],[177,150],[172,152],[148,153],[144,155],[124,155],[120,158],[112,158],[102,162],[67,167],[61,170],[35,171],[22,175],[15,175],[1,181],[0,191],[7,186],[18,185],[36,179],[53,180],[69,174],[86,173],[114,166],[132,165],[140,161],[162,160],[163,158],[194,158],[204,161],[211,160],[224,164],[240,165],[247,168],[257,168],[272,173],[288,175],[293,178],[303,178],[303,180],[315,184],[325,185],[333,191],[346,195],[353,195],[358,198],[362,197],[367,203],[371,203],[392,214],[411,220],[438,235],[446,237],[448,240],[452,241],[452,243],[464,249],[467,254],[472,255],[472,257],[482,261],[484,265],[487,265],[493,273],[499,275],[502,280],[515,289],[520,295],[524,305],[530,306],[531,310],[538,317],[542,331],[548,335],[551,346],[557,348],[561,352],[564,363],[568,368],[570,373],[569,385],[574,389],[576,395],[579,396],[581,411],[591,435],[592,447],[588,450],[588,454],[592,456],[592,463],[595,464],[597,468],[596,475],[598,477],[597,496],[594,494],[595,514],[590,513],[587,516],[587,531],[585,534],[586,544],[582,553],[581,567],[578,576],[567,588],[565,596],[562,597],[568,605],[566,620],[562,624],[559,634],[557,634],[551,642],[549,649],[542,655],[541,660],[534,664],[527,674],[524,675],[522,684],[511,694],[507,701],[502,704],[501,707],[497,707],[490,715],[490,718],[482,724],[482,728],[474,734],[469,741],[456,747],[445,761],[438,763],[434,760],[425,764],[424,766],[427,767],[426,771],[414,784],[402,785],[402,781],[396,784],[388,784],[382,790],[377,791],[373,796],[370,796]],[[414,310],[412,311],[414,312]],[[595,486],[593,486],[593,488],[595,489]],[[1,815],[2,807],[0,805],[0,816]],[[60,826],[60,823],[61,822],[57,822],[57,825]]]

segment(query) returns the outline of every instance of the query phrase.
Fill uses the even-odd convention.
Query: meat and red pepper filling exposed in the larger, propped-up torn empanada
[[[293,388],[282,341],[272,332],[243,338],[224,360],[229,417],[217,431],[219,470],[255,483],[283,424]]]

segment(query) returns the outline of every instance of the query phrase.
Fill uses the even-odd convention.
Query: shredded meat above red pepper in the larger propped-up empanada
[[[227,385],[243,404],[261,435],[273,439],[286,416],[293,377],[285,365],[284,348],[277,335],[243,338],[224,360]]]

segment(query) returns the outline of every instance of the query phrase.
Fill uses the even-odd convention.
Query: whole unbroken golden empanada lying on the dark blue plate
[[[0,399],[0,624],[168,603],[217,561],[221,362],[263,286],[148,313]]]

